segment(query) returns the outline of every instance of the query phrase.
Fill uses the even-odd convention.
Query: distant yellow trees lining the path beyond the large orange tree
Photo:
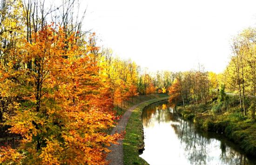
[[[149,73],[131,59],[115,56],[108,48],[102,49],[100,59],[99,65],[103,68],[100,74],[106,75],[110,80],[115,104],[137,95],[165,93],[173,81],[172,72]]]

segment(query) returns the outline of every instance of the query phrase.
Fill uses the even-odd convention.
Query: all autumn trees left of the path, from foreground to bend
[[[0,0],[0,123],[22,136],[0,164],[105,164],[113,107],[166,92],[171,72],[148,73],[82,31],[78,0]],[[3,133],[2,136],[8,136]]]

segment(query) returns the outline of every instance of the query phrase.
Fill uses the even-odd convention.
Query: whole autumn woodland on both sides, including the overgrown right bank
[[[20,137],[16,147],[0,142],[0,164],[106,164],[108,146],[123,138],[107,131],[118,108],[159,93],[185,119],[256,154],[256,28],[232,39],[223,73],[202,64],[151,73],[99,46],[78,6],[0,0],[0,139]]]

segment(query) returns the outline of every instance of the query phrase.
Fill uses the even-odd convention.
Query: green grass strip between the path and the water
[[[126,126],[126,135],[123,139],[124,164],[125,165],[148,165],[148,163],[139,157],[144,148],[143,125],[141,122],[141,113],[143,108],[166,98],[150,100],[136,107],[131,114]]]

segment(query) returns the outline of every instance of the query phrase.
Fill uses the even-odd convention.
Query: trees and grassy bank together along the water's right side
[[[179,72],[169,87],[170,103],[185,119],[219,132],[256,156],[256,29],[233,39],[233,55],[223,73]]]

